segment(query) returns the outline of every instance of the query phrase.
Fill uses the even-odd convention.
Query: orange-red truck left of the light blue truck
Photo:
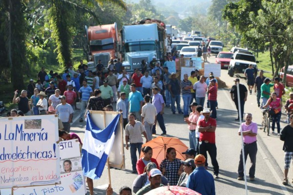
[[[121,59],[117,23],[100,26],[85,26],[87,46],[84,47],[88,69],[95,70],[101,59],[105,69],[110,59]]]

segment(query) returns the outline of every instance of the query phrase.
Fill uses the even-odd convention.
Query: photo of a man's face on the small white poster
[[[60,160],[60,174],[76,172],[82,170],[80,157],[72,157]]]

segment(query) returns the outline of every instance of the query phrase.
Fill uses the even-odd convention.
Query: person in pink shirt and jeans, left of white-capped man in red
[[[188,124],[188,130],[189,130],[189,147],[196,150],[196,124],[199,117],[199,113],[196,112],[197,103],[193,102],[190,104],[192,112],[189,114],[189,117],[184,118],[184,121]]]

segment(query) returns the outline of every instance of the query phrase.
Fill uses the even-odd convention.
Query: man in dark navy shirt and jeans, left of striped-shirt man
[[[178,78],[178,74],[177,73],[172,73],[169,78],[169,82],[168,82],[168,90],[170,92],[171,95],[171,110],[173,115],[175,115],[175,102],[177,105],[177,110],[179,114],[183,114],[181,108],[180,108],[180,93],[181,93],[181,88],[180,88],[180,81],[177,79]]]

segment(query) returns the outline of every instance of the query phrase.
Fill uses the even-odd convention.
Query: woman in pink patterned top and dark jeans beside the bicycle
[[[281,119],[281,108],[283,106],[282,101],[280,98],[277,98],[276,92],[272,92],[269,100],[267,101],[266,105],[264,105],[262,108],[266,108],[270,106],[270,109],[273,109],[274,114],[270,114],[272,117],[272,134],[274,133],[274,127],[275,123],[277,123],[277,131],[278,136],[280,135],[280,119]],[[270,112],[271,113],[271,112]]]

